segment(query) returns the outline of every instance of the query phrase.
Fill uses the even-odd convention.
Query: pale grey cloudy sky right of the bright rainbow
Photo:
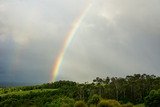
[[[61,74],[75,72],[81,81],[134,73],[159,75],[159,1],[94,2],[68,49]]]

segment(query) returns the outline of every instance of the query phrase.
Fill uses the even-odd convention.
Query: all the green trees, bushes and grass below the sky
[[[56,81],[36,86],[0,88],[0,107],[158,107],[160,77],[106,77],[92,83]]]

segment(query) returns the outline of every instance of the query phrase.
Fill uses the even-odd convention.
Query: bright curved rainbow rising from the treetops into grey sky
[[[53,69],[52,69],[52,74],[51,74],[51,82],[54,82],[56,80],[56,77],[58,75],[59,69],[61,67],[65,52],[67,50],[67,48],[69,47],[73,37],[75,36],[76,31],[78,30],[81,22],[83,21],[84,17],[86,16],[86,14],[88,13],[89,9],[91,8],[91,1],[89,1],[87,7],[83,10],[83,12],[80,14],[80,16],[77,18],[77,20],[75,20],[71,26],[71,30],[68,32],[68,34],[66,35],[62,48],[56,58],[56,60],[54,61],[53,64]]]

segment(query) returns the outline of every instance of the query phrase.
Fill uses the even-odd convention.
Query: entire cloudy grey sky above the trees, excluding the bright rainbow
[[[0,0],[0,82],[46,83],[85,13],[56,80],[160,76],[159,0]]]

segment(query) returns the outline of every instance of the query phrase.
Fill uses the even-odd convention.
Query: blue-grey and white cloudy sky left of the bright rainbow
[[[0,81],[48,82],[64,37],[84,6],[85,0],[1,0]]]

